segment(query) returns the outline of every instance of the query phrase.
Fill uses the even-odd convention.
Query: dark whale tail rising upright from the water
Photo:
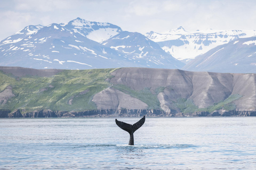
[[[143,116],[143,118],[141,118],[141,120],[139,120],[137,123],[134,123],[133,125],[124,123],[121,121],[117,121],[117,119],[116,119],[117,126],[119,126],[119,128],[125,130],[126,132],[128,132],[130,134],[129,145],[134,145],[133,133],[135,131],[137,131],[144,124],[145,119],[146,119],[145,116]]]

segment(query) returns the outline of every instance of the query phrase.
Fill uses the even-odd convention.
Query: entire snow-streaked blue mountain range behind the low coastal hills
[[[255,35],[255,30],[209,29],[189,32],[183,27],[163,33],[151,31],[142,35],[138,32],[124,31],[108,22],[93,22],[76,18],[65,24],[52,23],[45,27],[28,25],[0,41],[0,65],[34,69],[83,70],[151,67],[254,73],[254,52],[251,51],[252,54],[249,54],[246,46],[241,46],[244,49],[238,46],[237,49],[233,47],[233,51],[239,50],[239,56],[232,51],[229,54],[233,56],[227,52],[223,53],[227,56],[226,58],[218,57],[216,54],[226,51],[225,49],[219,52],[219,47],[226,47],[230,42],[242,41],[242,37],[252,36],[253,39]],[[250,48],[252,48],[251,45]],[[244,57],[245,54],[248,54],[247,58]],[[198,63],[195,66],[197,68],[193,69],[192,63],[202,56],[210,57],[211,60],[215,58],[214,62],[211,66],[205,67],[202,67],[205,62]],[[239,62],[228,61],[227,58],[230,57],[236,58]],[[185,63],[188,65],[185,66]],[[218,66],[218,63],[222,66]],[[236,64],[236,67],[230,66],[230,63]],[[238,63],[242,64],[239,71]],[[199,66],[201,69],[197,70]]]

